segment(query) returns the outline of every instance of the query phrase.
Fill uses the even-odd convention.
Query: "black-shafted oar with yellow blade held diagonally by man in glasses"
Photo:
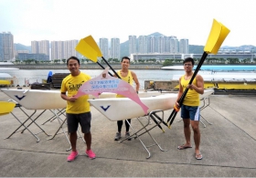
[[[197,76],[197,72],[199,71],[199,69],[201,68],[201,66],[203,65],[205,59],[207,58],[208,54],[217,54],[219,51],[219,47],[221,46],[221,44],[223,43],[223,41],[225,40],[225,38],[228,36],[230,30],[222,25],[221,23],[219,23],[217,20],[213,19],[213,24],[211,26],[211,30],[208,36],[208,41],[206,46],[204,47],[204,53],[202,55],[202,58],[200,59],[196,70],[194,71],[194,74],[192,76],[192,78],[190,79],[188,85],[191,85],[191,83],[193,82],[193,80],[196,78]],[[178,99],[178,104],[179,107],[182,106],[182,103],[184,101],[184,99],[186,98],[187,95],[187,91],[188,89],[185,89],[185,91],[183,92],[182,96],[180,97],[180,99]],[[174,110],[172,111],[171,115],[169,116],[167,122],[170,121],[169,126],[172,125],[173,121],[176,118],[176,113],[178,112],[179,108],[176,108],[176,106],[174,107]]]

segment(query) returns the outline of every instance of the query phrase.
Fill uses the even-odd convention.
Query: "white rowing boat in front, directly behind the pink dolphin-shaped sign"
[[[205,90],[200,99],[208,97],[214,89]],[[141,98],[142,102],[152,110],[171,110],[176,103],[177,93],[167,93],[157,96]],[[91,105],[112,121],[127,120],[144,116],[144,110],[133,100],[128,98],[89,99]]]

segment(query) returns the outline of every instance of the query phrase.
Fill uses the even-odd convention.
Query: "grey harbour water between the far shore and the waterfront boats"
[[[80,69],[82,72],[87,73],[91,76],[91,78],[95,78],[101,74],[103,71],[102,69]],[[140,82],[140,89],[144,89],[144,80],[171,80],[173,77],[181,76],[184,74],[184,70],[163,70],[163,69],[132,69]],[[26,84],[32,84],[32,83],[42,83],[43,79],[48,78],[48,72],[52,71],[53,74],[55,73],[69,73],[68,69],[6,69],[6,70],[0,70],[0,72],[5,72],[13,76],[14,79],[14,86],[24,86]],[[117,71],[117,70],[116,70]],[[110,70],[111,73],[113,73]],[[250,75],[255,76],[256,79],[256,72],[212,72],[212,71],[205,71],[200,70],[199,74],[201,75]]]

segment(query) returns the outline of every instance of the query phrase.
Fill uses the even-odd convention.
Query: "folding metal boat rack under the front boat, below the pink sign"
[[[162,115],[161,117],[157,115],[159,113]],[[141,120],[142,118],[145,118],[147,120],[147,122],[145,124],[142,122],[142,120]],[[156,120],[155,118],[157,118],[158,120]],[[166,152],[167,150],[162,149],[161,146],[158,144],[158,142],[155,141],[155,139],[153,138],[153,136],[149,132],[149,131],[153,130],[155,127],[159,127],[160,124],[164,121],[164,110],[153,110],[147,116],[137,118],[137,120],[139,120],[139,122],[141,123],[141,125],[143,127],[140,130],[135,131],[134,128],[132,127],[132,125],[130,124],[130,122],[128,120],[125,120],[130,125],[130,127],[133,131],[133,134],[130,135],[130,137],[126,137],[122,141],[118,141],[118,142],[127,141],[128,139],[132,139],[132,138],[138,139],[142,143],[142,145],[144,146],[145,151],[148,153],[148,156],[146,157],[146,159],[149,159],[151,157],[151,152],[149,152],[149,150],[147,149],[149,147],[153,147],[153,146],[156,145],[156,146],[158,146],[160,151]],[[153,120],[155,122],[155,125],[153,125],[151,127],[148,127],[149,125],[152,124],[151,120]],[[147,133],[150,136],[150,138],[154,141],[154,144],[148,145],[148,146],[146,146],[144,144],[144,142],[140,139],[140,136],[144,135],[144,133]]]

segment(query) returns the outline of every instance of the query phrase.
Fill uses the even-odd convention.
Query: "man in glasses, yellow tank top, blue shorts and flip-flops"
[[[194,59],[186,58],[183,61],[185,75],[179,79],[179,91],[177,95],[177,99],[180,99],[184,90],[187,88],[187,95],[183,101],[181,106],[181,118],[184,122],[184,134],[186,143],[178,146],[177,149],[184,150],[187,148],[192,148],[192,144],[190,142],[190,124],[192,130],[194,131],[194,141],[195,141],[195,157],[197,160],[201,160],[203,155],[199,150],[200,144],[200,130],[199,130],[199,119],[200,119],[200,109],[199,109],[199,94],[204,93],[204,79],[197,75],[193,80],[191,85],[188,85],[190,79],[193,76],[193,67],[194,67]],[[176,101],[176,107],[178,106],[178,102]]]

